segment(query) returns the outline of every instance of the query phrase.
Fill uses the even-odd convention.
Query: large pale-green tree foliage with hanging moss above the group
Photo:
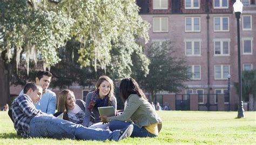
[[[138,15],[135,1],[3,0],[0,5],[0,67],[5,74],[1,77],[7,78],[0,85],[0,93],[8,92],[4,98],[9,96],[8,78],[18,73],[21,58],[25,56],[27,74],[30,60],[35,65],[37,60],[42,61],[44,69],[50,68],[60,61],[60,49],[70,38],[79,42],[80,66],[93,67],[96,73],[100,69],[105,74],[116,70],[117,77],[130,75],[131,55],[136,52],[145,56],[136,39],[147,42],[149,24]],[[126,60],[114,57],[122,52],[126,53]],[[146,74],[148,68],[143,68]]]

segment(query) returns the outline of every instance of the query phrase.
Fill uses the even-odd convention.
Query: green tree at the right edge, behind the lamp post
[[[250,71],[242,71],[242,99],[244,101],[250,101],[249,103],[252,105],[252,108],[256,108],[256,70],[250,70]],[[238,94],[238,88],[239,83],[234,82],[234,86],[237,89]],[[250,94],[252,94],[252,98],[250,98]]]

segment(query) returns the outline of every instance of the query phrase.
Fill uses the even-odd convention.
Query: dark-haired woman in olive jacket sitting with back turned
[[[112,117],[100,116],[102,121],[110,122],[110,130],[133,125],[131,137],[157,137],[162,121],[137,82],[133,78],[125,78],[120,83],[119,91],[125,101],[123,114]]]

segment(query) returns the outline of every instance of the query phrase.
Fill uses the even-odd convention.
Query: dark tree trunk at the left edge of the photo
[[[0,56],[0,106],[9,103],[10,105],[10,80],[4,60]]]

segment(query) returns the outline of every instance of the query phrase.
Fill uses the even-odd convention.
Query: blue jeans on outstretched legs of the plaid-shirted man
[[[120,130],[113,132],[103,129],[86,128],[55,116],[35,116],[30,121],[30,137],[52,137],[54,134],[69,133],[80,140],[118,141]]]

